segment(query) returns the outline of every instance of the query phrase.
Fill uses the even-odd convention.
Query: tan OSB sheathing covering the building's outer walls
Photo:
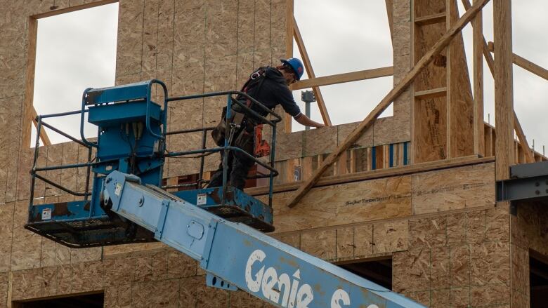
[[[0,1],[0,39],[13,42],[0,46],[0,307],[9,300],[99,290],[105,290],[105,307],[269,307],[245,293],[207,288],[195,261],[160,244],[75,250],[23,228],[33,154],[20,144],[26,65],[20,55],[27,53],[28,17],[89,2]],[[122,0],[116,82],[157,78],[171,95],[237,88],[254,67],[275,65],[285,55],[285,3]],[[409,1],[393,3],[396,81],[411,65],[410,8]],[[409,141],[410,95],[404,93],[394,116],[377,121],[357,145]],[[223,104],[174,103],[169,124],[215,125]],[[282,135],[280,159],[330,152],[353,126]],[[172,136],[169,147],[190,149],[198,139]],[[38,163],[87,157],[86,149],[69,142],[41,147]],[[215,163],[208,162],[210,168]],[[170,160],[165,174],[190,173],[196,166]],[[85,189],[84,168],[46,176]],[[508,304],[511,251],[524,248],[509,245],[509,214],[494,208],[493,187],[493,164],[483,163],[315,188],[293,210],[283,206],[287,194],[280,193],[274,236],[334,262],[391,255],[394,289],[433,307]],[[35,196],[41,198],[36,203],[72,199],[43,183]]]

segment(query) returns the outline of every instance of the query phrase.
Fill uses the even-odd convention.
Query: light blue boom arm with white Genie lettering
[[[277,307],[424,307],[344,269],[228,222],[134,176],[113,171],[106,206],[200,262],[208,286],[246,291]]]

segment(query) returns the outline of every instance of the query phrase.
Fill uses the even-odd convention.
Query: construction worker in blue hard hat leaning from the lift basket
[[[274,109],[277,105],[282,105],[282,108],[293,116],[295,121],[301,123],[304,126],[312,126],[315,128],[323,127],[322,123],[315,122],[308,118],[308,116],[301,113],[299,106],[293,98],[289,85],[301,79],[304,73],[303,62],[297,58],[289,58],[287,60],[280,60],[282,63],[278,67],[260,67],[250,76],[242,88],[242,92],[247,93],[252,98],[261,102],[269,109]],[[237,98],[240,99],[240,98]],[[244,99],[245,100],[245,99]],[[266,116],[266,112],[259,108],[252,109],[259,112],[262,116]],[[223,117],[224,119],[224,117]],[[244,115],[245,128],[242,129],[242,133],[235,137],[234,146],[244,149],[247,153],[254,156],[254,126],[252,119],[248,115]],[[223,120],[221,120],[223,121]],[[214,140],[218,145],[221,145],[221,138],[216,138],[214,133]],[[222,142],[224,140],[224,135]],[[249,169],[254,165],[254,161],[249,159],[245,154],[237,151],[230,152],[228,156],[228,179],[230,186],[243,189],[247,173]],[[223,185],[223,153],[221,152],[221,164],[219,168],[211,175],[209,187],[219,187]]]

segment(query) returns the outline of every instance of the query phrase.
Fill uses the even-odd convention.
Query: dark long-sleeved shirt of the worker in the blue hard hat
[[[301,109],[296,105],[293,93],[285,83],[284,76],[274,67],[266,68],[266,77],[259,91],[253,88],[249,91],[249,95],[270,109],[274,109],[276,105],[280,104],[285,112],[293,117],[301,114]],[[259,111],[256,108],[253,109],[263,116],[266,115],[266,112]]]

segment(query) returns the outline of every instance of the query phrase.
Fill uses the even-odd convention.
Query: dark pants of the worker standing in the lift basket
[[[250,138],[244,140],[244,145],[242,149],[246,152],[253,153],[253,135]],[[221,152],[221,163],[218,166],[218,169],[213,175],[211,175],[211,180],[207,187],[221,187],[223,186],[223,158],[224,153]],[[247,155],[240,151],[228,151],[228,170],[227,170],[227,182],[230,181],[230,186],[243,189],[245,186],[245,180],[247,178],[247,173],[249,169],[254,165],[254,161],[250,159]]]

